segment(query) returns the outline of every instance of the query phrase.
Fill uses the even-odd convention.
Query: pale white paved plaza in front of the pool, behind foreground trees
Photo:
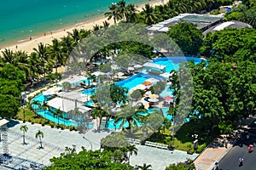
[[[28,131],[26,133],[26,144],[22,144],[22,132],[20,126],[26,124]],[[39,140],[35,138],[38,130],[44,133],[43,147],[39,149]],[[53,156],[60,156],[65,147],[73,148],[76,145],[76,150],[85,149],[93,150],[100,149],[100,141],[102,138],[110,134],[110,131],[96,132],[96,128],[90,129],[87,133],[81,134],[75,131],[61,130],[51,128],[39,124],[31,124],[29,122],[20,122],[13,127],[9,127],[9,154],[11,156],[19,156],[21,158],[36,161],[44,165],[49,165],[49,159]],[[88,140],[83,139],[85,137]],[[91,143],[91,146],[90,146]],[[153,169],[165,169],[172,163],[186,161],[187,158],[195,159],[197,154],[188,155],[180,150],[162,150],[144,145],[137,145],[137,156],[131,156],[131,165],[143,165],[143,163],[151,164]],[[3,142],[0,142],[0,153],[3,152]]]

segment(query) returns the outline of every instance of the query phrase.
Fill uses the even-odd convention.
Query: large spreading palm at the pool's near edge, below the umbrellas
[[[115,123],[121,122],[119,125],[120,127],[123,127],[125,122],[129,123],[129,133],[132,133],[132,127],[137,127],[137,122],[141,122],[141,119],[143,118],[143,115],[141,112],[144,112],[145,110],[138,110],[137,106],[130,106],[127,105],[126,107],[121,108],[121,111],[117,113],[116,118],[114,120]]]

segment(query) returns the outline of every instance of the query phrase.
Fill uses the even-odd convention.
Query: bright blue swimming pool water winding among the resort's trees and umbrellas
[[[172,70],[177,70],[179,67],[179,63],[183,62],[183,61],[188,61],[193,59],[195,64],[201,62],[201,59],[198,58],[191,58],[191,57],[168,57],[168,58],[160,58],[160,59],[155,59],[154,61],[152,61],[155,64],[159,64],[159,65],[166,65],[166,72],[170,72]],[[145,82],[148,78],[154,77],[156,79],[160,79],[160,77],[157,76],[153,76],[153,75],[148,75],[148,74],[143,74],[143,73],[138,73],[137,75],[133,76],[133,77],[129,77],[123,81],[120,82],[116,82],[117,85],[123,87],[123,88],[128,88],[128,90],[130,90],[131,88],[134,88],[135,86],[137,86],[138,84],[142,84],[143,82]],[[83,80],[81,80],[80,82],[83,82]],[[78,82],[79,83],[79,82]],[[88,83],[88,82],[87,82]],[[172,96],[172,90],[168,89],[169,86],[166,86],[166,89],[160,94],[160,96]],[[95,90],[95,88],[92,89],[84,89],[81,91],[81,93],[83,94],[87,94],[87,95],[91,95],[93,93],[93,91]],[[43,104],[43,101],[47,100],[49,96],[44,96],[43,94],[39,94],[37,97],[35,97],[32,100],[38,100],[41,104]],[[85,105],[91,105],[93,103],[92,100],[90,100],[89,102],[87,102]],[[38,109],[38,106],[34,107],[35,109]],[[150,114],[153,111],[160,111],[159,108],[154,108],[153,109],[149,109],[147,111],[147,113],[142,113],[144,115]],[[163,111],[164,116],[166,116],[166,118],[168,120],[172,119],[172,116],[169,116],[167,111],[169,110],[168,107],[164,107],[161,108],[161,111]],[[41,116],[46,116],[47,119],[49,119],[50,121],[53,122],[58,122],[57,117],[54,117],[52,115],[52,113],[50,111],[37,111],[39,115]],[[185,120],[185,122],[188,122],[189,118],[187,118]],[[63,124],[65,122],[66,125],[73,125],[73,126],[78,126],[77,122],[73,122],[73,121],[69,121],[69,120],[64,120],[60,117],[60,123]],[[114,129],[114,125],[113,125],[114,120],[111,120],[108,122],[108,129]],[[116,128],[119,128],[120,126],[120,122],[116,123]],[[141,122],[137,122],[137,125],[140,126],[142,123]],[[90,123],[90,127],[93,126],[93,123]],[[128,122],[125,122],[125,124],[123,125],[123,127],[128,127],[129,124]]]

